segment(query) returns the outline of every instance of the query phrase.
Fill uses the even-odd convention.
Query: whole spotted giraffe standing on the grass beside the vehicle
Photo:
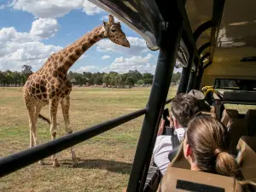
[[[66,133],[71,134],[73,129],[70,125],[69,106],[72,84],[67,78],[67,71],[73,66],[84,52],[102,38],[110,39],[114,44],[130,48],[125,33],[119,22],[114,22],[113,16],[103,21],[102,26],[97,26],[91,32],[86,33],[67,48],[49,56],[44,66],[26,80],[23,87],[23,99],[29,116],[30,127],[30,148],[37,146],[37,121],[44,119],[49,123],[51,139],[56,137],[56,114],[58,105],[61,103],[63,118],[65,121]],[[41,109],[49,105],[50,119],[40,114]],[[73,165],[77,164],[76,154],[71,148]],[[52,166],[60,166],[55,154],[51,157]],[[38,162],[44,165],[43,160]]]

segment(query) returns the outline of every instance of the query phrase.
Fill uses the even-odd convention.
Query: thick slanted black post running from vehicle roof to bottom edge
[[[177,10],[176,1],[158,1],[160,12],[168,11],[170,23],[163,28],[160,54],[154,73],[154,82],[148,99],[148,113],[143,121],[143,128],[132,165],[127,192],[143,191],[148,166],[151,160],[160,116],[171,84],[173,67],[176,62],[177,48],[183,29],[182,16]],[[166,10],[166,3],[169,3]]]

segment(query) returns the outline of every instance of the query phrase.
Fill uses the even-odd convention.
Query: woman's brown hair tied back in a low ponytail
[[[186,137],[192,150],[191,158],[201,171],[236,178],[240,175],[236,159],[228,153],[230,134],[217,119],[195,117],[189,122]]]

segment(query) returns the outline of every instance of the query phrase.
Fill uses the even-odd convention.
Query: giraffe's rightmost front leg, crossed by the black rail
[[[70,125],[70,119],[69,119],[69,106],[70,106],[70,97],[66,96],[61,100],[61,108],[62,108],[62,113],[63,113],[65,125],[66,125],[67,134],[71,134],[73,132]],[[70,150],[71,150],[71,156],[73,160],[73,166],[75,166],[78,163],[78,160],[77,160],[74,149],[71,147]]]

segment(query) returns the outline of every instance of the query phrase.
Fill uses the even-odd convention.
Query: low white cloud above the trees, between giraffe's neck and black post
[[[154,58],[154,55],[148,54],[146,56],[132,56],[124,58],[123,56],[116,58],[108,67],[103,67],[102,72],[118,72],[127,73],[129,70],[138,70],[140,73],[154,73],[155,65],[151,65],[149,61]]]

